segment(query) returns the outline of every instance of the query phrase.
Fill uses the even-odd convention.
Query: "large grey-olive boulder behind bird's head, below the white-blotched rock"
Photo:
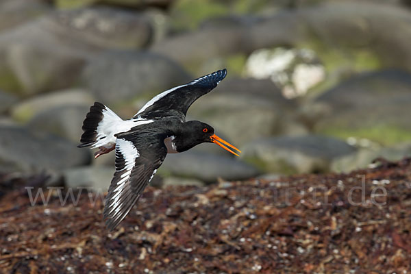
[[[242,145],[262,136],[306,132],[292,120],[294,105],[269,79],[232,78],[195,101],[188,114],[212,125],[217,135],[222,133],[234,145]]]

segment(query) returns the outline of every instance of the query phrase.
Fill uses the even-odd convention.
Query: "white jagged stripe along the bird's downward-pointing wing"
[[[115,210],[114,216],[112,217],[113,219],[115,219],[115,216],[121,209],[121,207],[119,207],[119,199],[126,194],[125,192],[127,192],[127,190],[129,190],[129,187],[126,186],[129,184],[129,179],[132,174],[132,169],[134,168],[136,158],[140,156],[140,153],[136,147],[134,147],[133,142],[124,139],[116,140],[116,153],[121,153],[124,159],[124,168],[118,170],[117,172],[125,171],[125,173],[121,175],[121,179],[116,184],[117,187],[113,190],[114,195],[110,199],[110,201],[114,200],[110,202],[111,209],[109,212],[109,214],[111,214],[113,210]]]

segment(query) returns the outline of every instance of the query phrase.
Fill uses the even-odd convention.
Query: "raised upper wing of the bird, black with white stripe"
[[[188,84],[166,90],[148,101],[134,118],[159,119],[177,116],[185,120],[188,108],[199,97],[206,95],[227,75],[227,70],[216,71],[192,80]]]

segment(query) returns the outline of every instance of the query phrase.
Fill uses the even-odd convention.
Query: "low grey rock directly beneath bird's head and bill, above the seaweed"
[[[158,173],[163,177],[173,175],[215,182],[217,177],[227,180],[248,179],[258,175],[258,170],[230,157],[186,151],[167,155]]]

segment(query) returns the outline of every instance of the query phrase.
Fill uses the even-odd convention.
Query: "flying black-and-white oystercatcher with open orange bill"
[[[214,142],[227,151],[236,147],[200,121],[186,121],[190,105],[224,79],[227,70],[199,77],[166,90],[148,101],[132,119],[123,120],[95,102],[83,123],[81,145],[98,148],[95,158],[115,149],[116,172],[105,199],[103,218],[110,230],[125,218],[160,167],[167,153],[179,153],[202,142]]]

